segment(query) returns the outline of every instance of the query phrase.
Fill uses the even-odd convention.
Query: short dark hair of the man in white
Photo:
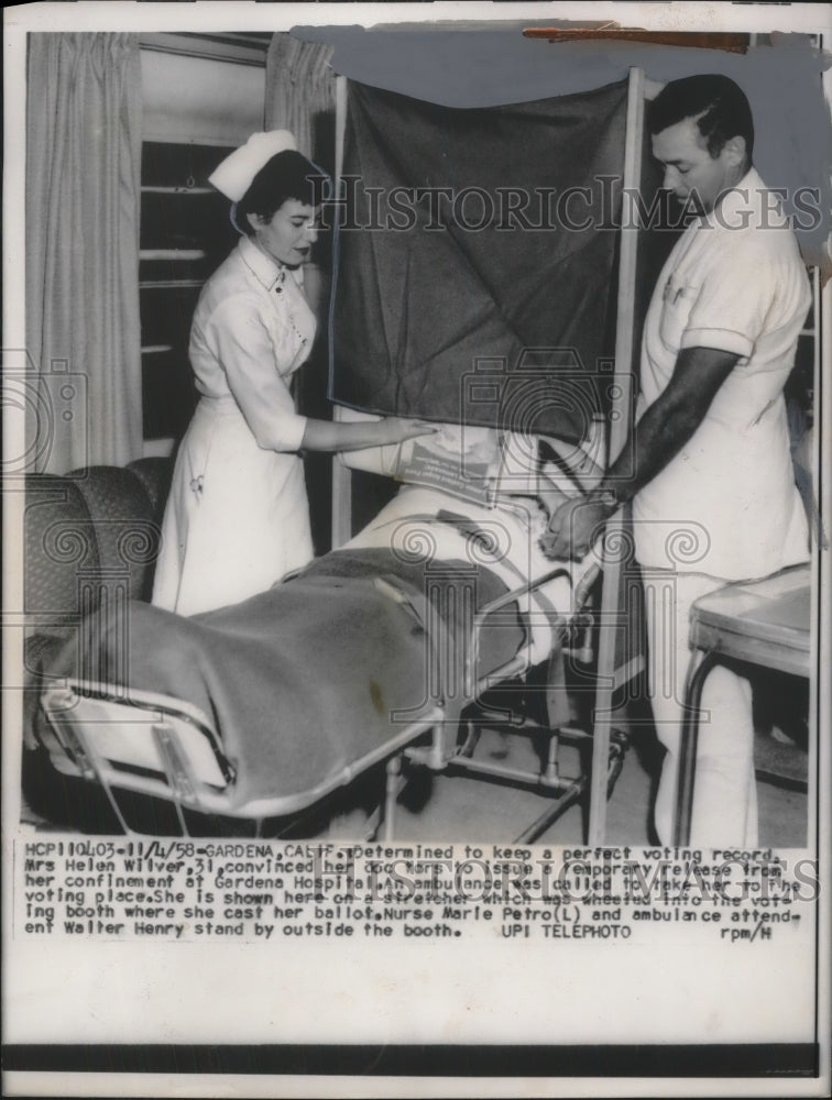
[[[703,74],[666,84],[648,109],[650,134],[683,119],[696,121],[711,156],[719,156],[731,138],[744,138],[746,162],[751,164],[754,120],[745,92],[730,77]]]

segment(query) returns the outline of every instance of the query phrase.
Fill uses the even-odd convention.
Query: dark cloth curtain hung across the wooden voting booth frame
[[[625,112],[626,82],[488,109],[351,84],[332,399],[582,438],[613,350]]]

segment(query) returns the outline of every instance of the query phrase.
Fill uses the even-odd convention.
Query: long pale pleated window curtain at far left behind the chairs
[[[132,34],[34,33],[26,102],[26,342],[39,472],[142,452],[142,103]]]

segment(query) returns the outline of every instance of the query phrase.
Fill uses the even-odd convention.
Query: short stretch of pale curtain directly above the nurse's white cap
[[[304,156],[332,170],[335,73],[332,46],[299,42],[288,32],[272,37],[266,54],[266,130],[291,130]]]

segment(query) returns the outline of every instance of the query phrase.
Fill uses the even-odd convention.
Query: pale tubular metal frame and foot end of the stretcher
[[[529,667],[533,635],[521,601],[556,578],[568,575],[562,566],[554,568],[497,596],[475,613],[464,649],[467,698],[475,701],[495,680],[516,676]],[[589,590],[590,580],[583,584],[582,592],[576,590],[579,604]],[[383,590],[385,582],[377,579],[376,583]],[[475,669],[482,631],[492,616],[510,605],[516,605],[519,610],[525,640],[506,663],[478,679]],[[557,631],[566,640],[572,624],[583,626],[580,607],[572,623],[557,616],[550,626],[552,632]],[[431,645],[437,644],[435,637],[430,640]],[[413,759],[422,760],[434,770],[444,770],[459,755],[456,724],[448,721],[449,715],[441,705],[434,703],[424,706],[399,733],[320,783],[293,794],[258,798],[238,805],[233,799],[234,767],[226,756],[211,719],[200,708],[171,696],[77,678],[48,686],[42,694],[42,705],[56,741],[55,745],[44,743],[44,747],[56,770],[97,783],[127,835],[135,835],[138,831],[131,827],[119,803],[117,792],[120,791],[169,802],[183,836],[189,835],[188,811],[251,821],[255,836],[260,836],[265,821],[286,818],[308,810],[386,761],[385,795],[380,816],[384,839],[392,840],[403,754],[414,754]],[[455,734],[449,738],[451,728]],[[548,733],[556,737],[559,730]],[[431,735],[429,746],[416,747],[415,743],[427,734]],[[551,772],[550,767],[548,770]],[[580,779],[565,782],[558,776],[547,777],[543,768],[537,782],[562,792],[567,799],[562,809],[582,793],[584,785]],[[371,818],[369,831],[375,832],[379,824]]]

